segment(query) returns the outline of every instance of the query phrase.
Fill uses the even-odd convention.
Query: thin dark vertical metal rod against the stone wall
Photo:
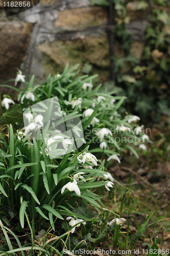
[[[114,37],[111,31],[113,27],[113,0],[109,0],[109,25],[110,25],[110,78],[115,82],[115,75],[114,75]]]

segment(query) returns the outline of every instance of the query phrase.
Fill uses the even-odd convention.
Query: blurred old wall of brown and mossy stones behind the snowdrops
[[[139,14],[133,8],[129,5],[127,27],[134,40],[131,53],[140,58],[149,23],[147,10]],[[83,73],[98,73],[98,81],[109,77],[108,10],[88,0],[41,0],[8,18],[0,0],[0,37],[0,83],[15,78],[17,68],[43,81],[48,73],[62,72],[66,62],[80,63]],[[117,42],[114,48],[124,56]]]

